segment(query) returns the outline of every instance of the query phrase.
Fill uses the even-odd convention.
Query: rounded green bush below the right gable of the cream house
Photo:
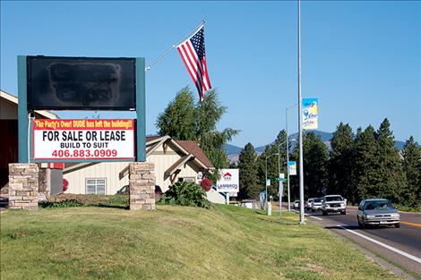
[[[206,199],[206,192],[193,182],[176,182],[162,195],[159,202],[163,204],[210,208],[211,202]]]

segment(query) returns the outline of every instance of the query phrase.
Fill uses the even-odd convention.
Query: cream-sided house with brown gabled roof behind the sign
[[[146,138],[146,161],[155,164],[157,189],[168,191],[175,182],[196,182],[214,171],[211,161],[193,140],[173,140],[167,136]],[[66,164],[64,179],[66,193],[116,194],[129,184],[130,162]],[[225,197],[215,190],[207,192],[208,199],[225,203]]]

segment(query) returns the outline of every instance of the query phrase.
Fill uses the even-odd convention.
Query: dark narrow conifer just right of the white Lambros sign
[[[257,182],[256,153],[251,143],[247,143],[238,157],[240,175],[239,199],[253,198],[259,194],[260,187]]]

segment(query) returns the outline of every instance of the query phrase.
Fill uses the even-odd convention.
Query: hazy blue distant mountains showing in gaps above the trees
[[[333,136],[333,133],[331,132],[321,132],[321,131],[313,131],[315,133],[316,136],[320,136],[322,138],[323,143],[330,149],[331,148],[331,138]],[[296,140],[298,138],[298,132],[294,133],[294,134],[290,134],[288,139],[289,140]],[[272,143],[268,144],[271,145]],[[266,146],[268,145],[263,145],[263,146],[259,146],[254,148],[254,150],[256,151],[257,154],[262,154],[262,152],[264,151],[264,148],[266,148]],[[295,147],[296,145],[296,141],[292,141],[291,142],[291,150]],[[398,148],[399,150],[403,149],[403,146],[405,145],[404,141],[400,141],[397,140],[395,141],[395,147]],[[238,155],[240,154],[241,150],[243,148],[234,146],[234,145],[230,145],[230,144],[225,144],[225,151],[227,152],[228,158],[230,161],[232,162],[236,162],[238,161]]]

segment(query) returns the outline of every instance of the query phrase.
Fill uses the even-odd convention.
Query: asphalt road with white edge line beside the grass
[[[421,277],[421,214],[400,212],[400,228],[394,226],[358,228],[357,208],[347,208],[347,215],[322,212],[306,213],[307,220],[345,235],[374,254],[398,264]]]

